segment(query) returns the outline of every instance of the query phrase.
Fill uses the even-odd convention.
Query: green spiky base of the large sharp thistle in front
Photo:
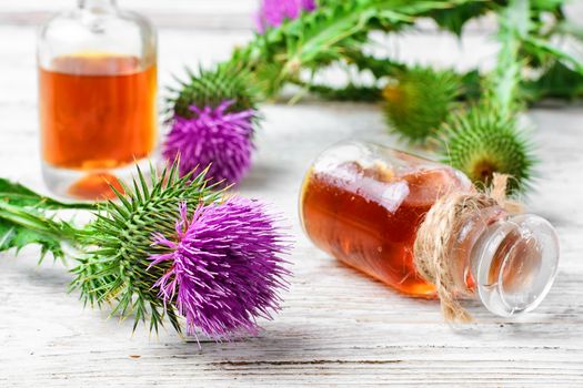
[[[134,314],[134,328],[150,319],[150,330],[157,331],[164,314],[180,333],[173,305],[164,306],[154,283],[168,270],[168,265],[151,266],[149,257],[157,253],[152,235],[175,234],[177,210],[181,203],[197,205],[219,201],[222,193],[207,186],[202,172],[179,177],[178,162],[161,174],[151,173],[151,188],[139,172],[132,187],[118,194],[119,202],[108,202],[99,217],[84,233],[83,246],[96,246],[74,268],[73,288],[90,305],[114,305],[112,314],[127,317]],[[190,182],[189,182],[190,181]],[[160,248],[158,248],[160,249]]]

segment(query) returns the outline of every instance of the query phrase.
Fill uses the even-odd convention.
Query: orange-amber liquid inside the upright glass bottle
[[[157,68],[134,57],[59,57],[40,68],[43,161],[90,172],[70,190],[99,196],[115,180],[108,170],[148,157],[157,145]],[[111,183],[111,182],[109,182]],[[105,193],[107,194],[107,193]]]

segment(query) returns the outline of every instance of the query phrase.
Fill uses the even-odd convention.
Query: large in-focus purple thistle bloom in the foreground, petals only
[[[284,261],[289,246],[265,205],[242,197],[199,206],[191,219],[180,205],[175,241],[160,234],[153,246],[168,253],[152,255],[150,266],[170,262],[154,284],[164,303],[175,303],[187,318],[187,333],[229,339],[244,330],[257,334],[255,318],[271,319],[279,310],[278,288],[285,288]]]

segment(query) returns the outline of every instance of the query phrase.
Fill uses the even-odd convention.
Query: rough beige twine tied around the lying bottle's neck
[[[509,213],[522,212],[522,205],[506,198],[507,175],[494,174],[489,192],[450,193],[431,207],[418,229],[413,262],[418,273],[436,288],[441,309],[448,321],[471,321],[470,313],[459,302],[461,290],[455,278],[452,246],[461,227],[478,212],[500,206]]]

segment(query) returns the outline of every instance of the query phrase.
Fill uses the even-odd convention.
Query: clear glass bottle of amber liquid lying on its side
[[[413,244],[424,215],[442,195],[472,193],[454,169],[379,144],[341,143],[310,167],[300,216],[312,242],[396,290],[433,298],[435,287],[415,270]],[[454,232],[449,247],[456,289],[478,295],[500,316],[534,309],[557,269],[559,241],[545,219],[481,211]]]

